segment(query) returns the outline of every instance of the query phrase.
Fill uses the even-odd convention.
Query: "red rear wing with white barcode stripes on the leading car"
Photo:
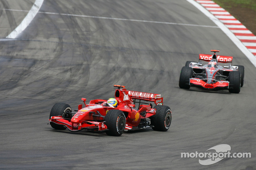
[[[128,91],[128,94],[132,99],[153,101],[156,105],[163,105],[163,98],[161,97],[161,94],[144,93],[136,91]]]

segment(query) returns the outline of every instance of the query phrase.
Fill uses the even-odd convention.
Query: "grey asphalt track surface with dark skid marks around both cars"
[[[16,39],[6,39],[33,3],[0,1],[0,169],[256,169],[256,68],[192,4],[44,0],[30,25]],[[245,66],[239,94],[179,88],[185,62],[211,49]],[[113,97],[114,84],[162,94],[172,109],[171,128],[110,137],[47,124],[56,102],[74,110],[82,97]],[[252,158],[209,166],[181,158],[181,152],[206,152],[218,144]]]

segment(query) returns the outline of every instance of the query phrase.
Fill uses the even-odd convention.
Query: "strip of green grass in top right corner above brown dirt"
[[[222,8],[243,7],[256,11],[256,0],[213,0]]]

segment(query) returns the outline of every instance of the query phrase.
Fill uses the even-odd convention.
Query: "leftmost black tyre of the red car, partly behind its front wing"
[[[62,116],[65,115],[68,112],[72,112],[71,107],[66,103],[56,103],[53,105],[52,110],[50,112],[50,119],[52,116]],[[57,130],[65,130],[67,129],[66,126],[58,125],[53,122],[50,123],[52,128]]]

